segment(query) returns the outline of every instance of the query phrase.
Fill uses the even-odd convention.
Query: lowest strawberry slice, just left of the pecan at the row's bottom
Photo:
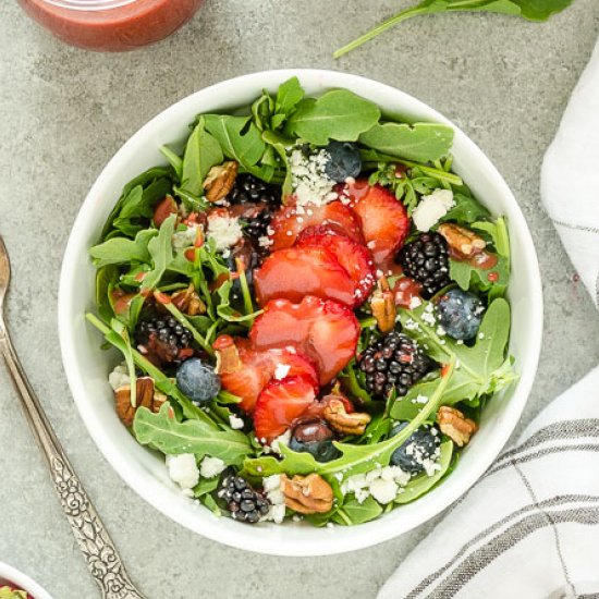
[[[305,377],[271,381],[260,393],[254,411],[254,432],[270,443],[315,402],[318,389]]]

